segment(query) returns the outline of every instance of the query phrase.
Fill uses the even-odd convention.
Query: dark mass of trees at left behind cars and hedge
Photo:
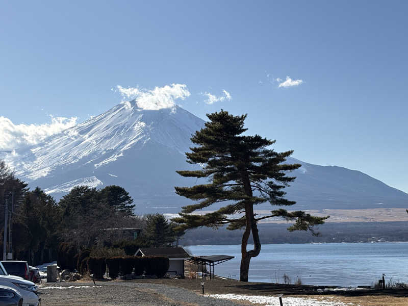
[[[12,243],[7,242],[7,252],[12,247],[13,259],[31,265],[57,260],[61,245],[75,253],[89,249],[95,256],[122,256],[133,255],[139,246],[173,245],[184,234],[161,214],[136,216],[132,197],[120,186],[74,187],[59,201],[27,186],[0,161],[0,243],[8,209]],[[131,228],[142,235],[135,239],[126,232]]]

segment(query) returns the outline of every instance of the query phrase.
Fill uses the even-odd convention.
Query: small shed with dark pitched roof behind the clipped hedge
[[[168,275],[184,276],[184,261],[190,260],[190,255],[182,247],[141,247],[135,256],[163,256],[169,259]]]

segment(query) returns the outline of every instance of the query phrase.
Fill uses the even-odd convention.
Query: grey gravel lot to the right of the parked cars
[[[71,287],[72,286],[72,287]],[[163,284],[129,282],[53,283],[40,286],[42,306],[233,306],[253,305],[201,296],[191,290]],[[70,288],[69,288],[70,287]]]

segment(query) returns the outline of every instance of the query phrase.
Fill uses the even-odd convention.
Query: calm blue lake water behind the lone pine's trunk
[[[235,256],[215,266],[215,274],[239,279],[240,245],[186,247],[192,254]],[[252,247],[248,245],[248,249]],[[386,274],[386,283],[408,282],[408,242],[264,244],[249,266],[250,282],[283,283],[297,277],[307,285],[356,287],[373,285]]]

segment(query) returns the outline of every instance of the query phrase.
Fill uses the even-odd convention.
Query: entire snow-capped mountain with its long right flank
[[[175,171],[188,169],[184,153],[190,137],[205,121],[173,107],[143,110],[136,101],[71,127],[43,143],[0,158],[16,175],[34,188],[56,198],[79,185],[101,188],[119,185],[130,192],[138,214],[176,213],[189,203],[177,196],[174,186],[195,184]],[[402,208],[408,194],[387,186],[360,171],[318,166],[289,158],[302,167],[287,188],[293,209]],[[270,209],[261,205],[259,209]]]

